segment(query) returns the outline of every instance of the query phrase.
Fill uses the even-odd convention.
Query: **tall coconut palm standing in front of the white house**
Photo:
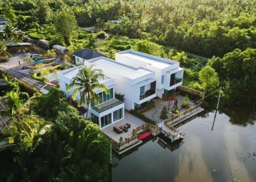
[[[96,94],[96,89],[102,89],[106,93],[108,93],[108,87],[99,83],[99,80],[105,78],[102,70],[93,69],[93,65],[90,67],[84,66],[82,67],[77,75],[73,77],[73,81],[67,87],[67,91],[69,92],[73,87],[74,92],[72,94],[72,99],[76,99],[76,95],[80,94],[80,99],[78,100],[78,107],[82,105],[87,105],[87,113],[86,119],[88,119],[88,112],[90,111],[91,102],[93,101],[96,105],[99,104],[99,96]]]

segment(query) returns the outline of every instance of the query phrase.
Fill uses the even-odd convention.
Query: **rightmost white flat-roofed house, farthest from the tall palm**
[[[162,98],[163,93],[182,85],[183,68],[180,63],[135,50],[124,50],[116,53],[117,62],[131,65],[133,67],[142,67],[155,72],[156,95]]]

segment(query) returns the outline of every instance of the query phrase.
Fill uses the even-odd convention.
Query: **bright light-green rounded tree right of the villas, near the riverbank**
[[[211,68],[209,65],[205,66],[199,72],[199,80],[206,93],[216,90],[219,86],[218,74],[215,72],[214,68]]]

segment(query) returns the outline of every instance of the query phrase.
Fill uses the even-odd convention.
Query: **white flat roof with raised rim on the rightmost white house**
[[[129,57],[131,59],[136,59],[136,60],[146,62],[146,63],[150,64],[151,66],[160,68],[160,69],[163,69],[170,65],[178,63],[177,61],[174,61],[174,60],[169,60],[169,59],[153,56],[150,54],[141,53],[139,51],[131,50],[131,49],[121,51],[117,54],[123,54],[126,57]]]

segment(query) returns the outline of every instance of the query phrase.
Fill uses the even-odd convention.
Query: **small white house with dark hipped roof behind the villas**
[[[98,58],[98,57],[105,57],[108,58],[107,56],[99,53],[98,51],[93,51],[90,48],[84,48],[82,50],[77,51],[74,53],[76,64],[81,65],[83,64],[84,61],[90,60],[93,58]]]

